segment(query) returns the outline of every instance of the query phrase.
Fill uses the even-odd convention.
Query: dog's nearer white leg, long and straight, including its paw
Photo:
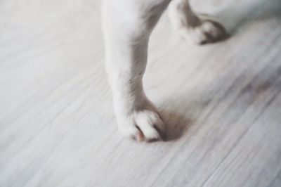
[[[106,70],[119,131],[138,141],[161,138],[164,124],[143,91],[148,40],[169,1],[105,0]]]

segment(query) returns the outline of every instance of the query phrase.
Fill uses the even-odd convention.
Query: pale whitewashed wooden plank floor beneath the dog
[[[0,186],[281,186],[281,1],[198,0],[232,34],[192,46],[164,14],[145,90],[168,139],[122,138],[99,0],[0,2]]]

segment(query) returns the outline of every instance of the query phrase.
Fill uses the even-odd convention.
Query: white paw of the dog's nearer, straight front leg
[[[117,115],[119,131],[137,141],[162,140],[164,123],[155,110],[136,110],[130,115]]]

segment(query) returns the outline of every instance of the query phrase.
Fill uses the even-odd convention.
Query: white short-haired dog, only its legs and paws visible
[[[196,44],[218,41],[226,30],[196,15],[188,0],[104,0],[106,70],[119,131],[138,141],[162,138],[164,123],[143,91],[150,33],[168,7],[174,28]]]

